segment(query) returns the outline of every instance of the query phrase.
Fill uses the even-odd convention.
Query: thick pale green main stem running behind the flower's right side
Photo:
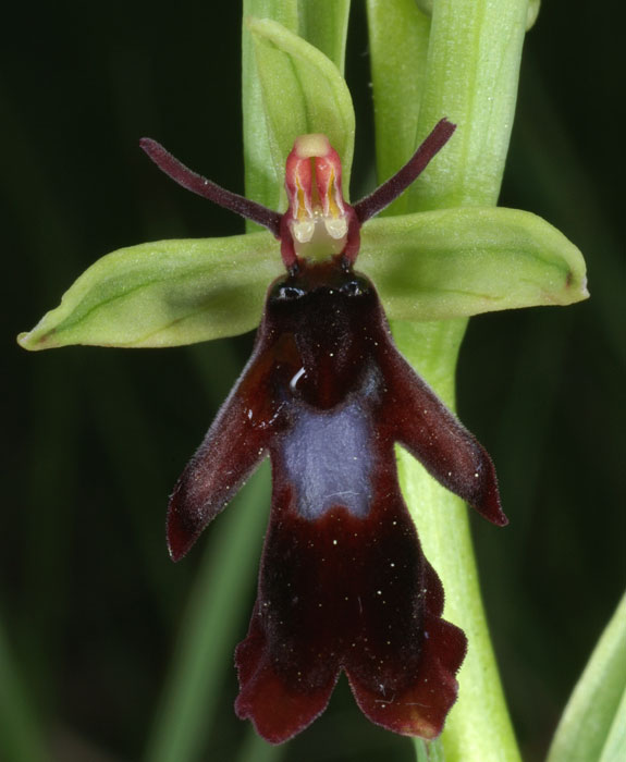
[[[405,16],[415,14],[402,0],[389,4],[396,11],[404,8]],[[378,10],[378,3],[370,0],[370,27],[377,25]],[[397,134],[388,130],[385,101],[394,109],[390,124],[392,119],[402,121],[406,112],[407,126],[401,134],[404,159],[442,116],[457,124],[445,150],[406,194],[407,211],[495,205],[513,124],[526,20],[526,0],[438,0],[430,25],[426,75],[414,75],[421,93],[417,94],[419,109],[413,144],[409,133],[416,120],[415,105],[404,108],[403,84],[397,78],[380,82],[373,75],[380,180],[398,162],[395,153],[384,150],[395,144],[393,150],[397,151],[398,140]],[[404,28],[415,29],[414,46],[422,50],[425,24]],[[386,56],[384,30],[372,48],[375,72]],[[378,87],[388,90],[380,100],[377,79]],[[455,320],[393,325],[401,352],[451,406],[466,324],[466,320]],[[400,471],[425,553],[446,591],[445,616],[463,627],[469,642],[459,673],[459,699],[442,735],[445,759],[518,760],[482,610],[467,511],[419,464],[402,453]]]

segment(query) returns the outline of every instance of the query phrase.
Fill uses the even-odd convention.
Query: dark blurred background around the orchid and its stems
[[[358,197],[373,144],[365,13],[353,5]],[[15,5],[0,48],[1,631],[20,679],[15,701],[27,702],[53,758],[72,762],[143,753],[201,557],[198,548],[170,563],[167,496],[251,341],[39,354],[14,341],[108,251],[242,231],[234,216],[159,176],[137,147],[152,136],[243,190],[240,3],[173,8]],[[544,3],[527,37],[501,198],[582,249],[591,299],[475,318],[459,365],[461,417],[493,455],[511,518],[504,531],[476,523],[475,536],[530,761],[542,759],[624,588],[616,23],[593,3]],[[251,606],[251,587],[249,597]],[[233,647],[247,604],[243,612]],[[232,712],[231,652],[199,759],[235,759],[247,734]],[[284,759],[410,759],[408,741],[370,727],[346,693]]]

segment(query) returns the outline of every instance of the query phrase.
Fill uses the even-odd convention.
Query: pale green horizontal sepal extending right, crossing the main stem
[[[580,251],[535,214],[441,209],[381,218],[361,232],[358,266],[391,320],[443,320],[587,298]]]

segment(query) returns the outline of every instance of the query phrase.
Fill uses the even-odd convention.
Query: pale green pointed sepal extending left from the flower
[[[269,233],[132,246],[88,268],[19,342],[164,347],[236,335],[258,324],[281,272]]]

